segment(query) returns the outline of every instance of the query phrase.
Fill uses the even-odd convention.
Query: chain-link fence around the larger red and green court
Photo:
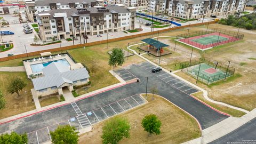
[[[212,39],[212,41],[209,41],[209,42],[199,43],[199,42],[193,41],[193,39],[199,39],[199,38],[209,37],[213,35],[217,36],[217,38]],[[178,39],[179,37],[181,37],[182,39]],[[225,43],[235,42],[243,38],[244,38],[244,34],[239,34],[238,32],[234,32],[226,29],[220,29],[220,28],[193,31],[190,33],[180,34],[177,36],[178,41],[187,43],[189,45],[193,45],[200,49],[207,49],[209,47],[214,47],[214,46],[222,45]]]

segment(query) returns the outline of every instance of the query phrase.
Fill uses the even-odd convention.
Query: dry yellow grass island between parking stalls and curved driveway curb
[[[121,116],[129,119],[131,124],[130,138],[119,143],[182,143],[201,136],[201,131],[194,118],[175,107],[161,97],[151,95],[149,102],[138,108],[126,111]],[[141,126],[142,118],[155,114],[162,122],[161,134],[148,136]],[[101,143],[102,125],[105,121],[93,125],[94,130],[82,134],[79,143]]]

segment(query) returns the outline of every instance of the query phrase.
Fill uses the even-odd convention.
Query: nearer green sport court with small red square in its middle
[[[201,66],[199,66],[201,65]],[[221,69],[215,69],[214,66],[208,65],[206,63],[201,63],[199,65],[191,66],[187,68],[187,74],[197,78],[198,75],[198,70],[199,70],[199,75],[198,75],[198,80],[201,82],[204,82],[206,84],[210,84],[216,81],[219,81],[221,79],[225,78],[226,71],[223,71]],[[233,74],[227,73],[226,77],[229,77]]]

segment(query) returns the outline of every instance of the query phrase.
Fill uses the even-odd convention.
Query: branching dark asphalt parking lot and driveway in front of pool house
[[[153,74],[150,72],[150,67],[153,66],[144,62],[140,65],[131,65],[120,69],[119,72],[117,71],[119,75],[121,75],[121,71],[126,70],[131,77],[140,78],[140,82],[99,93],[93,97],[73,102],[71,105],[68,104],[1,124],[0,133],[27,132],[29,133],[29,143],[42,143],[50,140],[49,131],[54,130],[58,125],[70,124],[81,129],[89,123],[100,122],[123,111],[143,105],[146,101],[138,94],[146,92],[146,76],[148,77],[148,92],[150,92],[151,86],[156,86],[159,95],[193,115],[201,124],[202,129],[227,118],[190,97],[190,93],[198,91],[192,86],[163,71]]]

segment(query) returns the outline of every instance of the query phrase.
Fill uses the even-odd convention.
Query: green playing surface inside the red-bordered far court
[[[202,35],[202,37],[200,38],[195,38],[195,39],[191,39],[191,41],[193,42],[197,42],[203,45],[207,45],[210,43],[217,43],[217,41],[222,42],[222,41],[227,41],[229,38],[226,37],[222,37],[219,35],[210,35],[210,36],[204,36]]]

